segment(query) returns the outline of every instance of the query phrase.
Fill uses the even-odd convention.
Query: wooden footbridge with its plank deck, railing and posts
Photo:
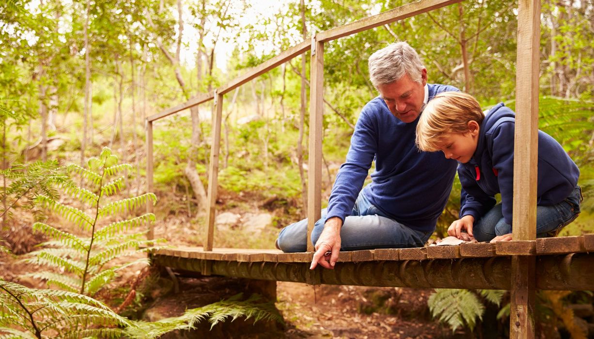
[[[153,191],[153,122],[214,100],[208,170],[208,218],[204,246],[161,249],[153,263],[184,274],[226,275],[308,284],[347,284],[460,289],[511,290],[510,338],[533,338],[535,290],[593,290],[594,235],[536,239],[536,164],[538,157],[538,93],[540,0],[519,0],[516,62],[516,129],[514,148],[513,241],[467,243],[409,249],[341,252],[334,270],[309,270],[309,240],[321,211],[324,43],[403,20],[462,0],[420,0],[311,36],[216,90],[150,116],[147,133],[147,190]],[[296,56],[311,51],[308,252],[213,249],[219,171],[220,131],[226,93]],[[152,205],[147,209],[152,211]],[[149,238],[153,238],[153,229]]]

